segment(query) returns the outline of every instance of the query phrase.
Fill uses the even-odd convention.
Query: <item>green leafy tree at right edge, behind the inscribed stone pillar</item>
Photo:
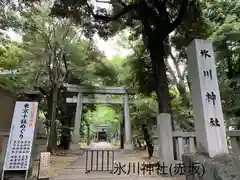
[[[206,2],[204,15],[214,27],[211,38],[216,49],[219,84],[225,118],[239,126],[239,56],[240,56],[240,3],[233,1]]]

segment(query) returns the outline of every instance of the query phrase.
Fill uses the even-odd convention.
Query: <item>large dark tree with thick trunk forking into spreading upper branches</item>
[[[106,28],[98,28],[100,35],[108,35],[123,29],[127,25],[134,28],[137,35],[141,34],[144,45],[150,53],[152,66],[152,74],[154,79],[154,90],[158,97],[158,105],[160,113],[170,113],[170,99],[168,92],[168,83],[166,76],[166,64],[164,63],[166,38],[181,23],[185,12],[193,13],[199,11],[199,5],[193,1],[118,1],[110,2],[113,7],[113,15],[106,15],[106,9],[98,9],[98,13],[94,14],[92,6],[87,1],[79,1],[79,3],[69,3],[68,1],[60,1],[53,7],[53,13],[67,16],[71,14],[75,19],[79,18],[76,12],[82,14],[88,13],[89,17],[93,17],[98,21],[92,22],[87,19],[91,27],[98,28],[104,22],[111,22]],[[71,8],[69,8],[71,7]],[[194,7],[194,9],[193,9]],[[170,12],[167,10],[169,9]],[[85,15],[85,14],[84,14]],[[175,17],[175,18],[174,18]],[[122,24],[122,25],[120,25]],[[118,28],[116,28],[118,26]],[[140,32],[140,33],[139,33]]]

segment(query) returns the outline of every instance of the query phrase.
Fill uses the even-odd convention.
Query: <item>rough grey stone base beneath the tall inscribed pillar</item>
[[[240,180],[240,160],[234,154],[223,154],[209,158],[198,153],[182,155],[185,167],[199,163],[199,173],[186,173],[186,180]],[[189,171],[189,168],[187,168]]]

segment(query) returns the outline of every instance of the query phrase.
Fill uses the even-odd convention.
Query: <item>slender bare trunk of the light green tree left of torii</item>
[[[52,112],[51,112],[51,127],[48,138],[47,151],[53,152],[56,147],[56,113],[57,113],[57,97],[58,97],[58,87],[56,84],[53,85],[53,99],[52,99]]]

